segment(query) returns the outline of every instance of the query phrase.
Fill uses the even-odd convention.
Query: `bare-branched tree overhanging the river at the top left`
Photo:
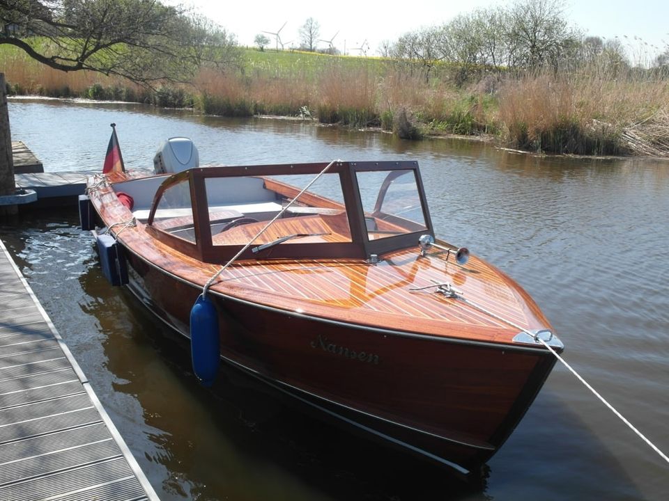
[[[56,70],[118,75],[145,86],[188,81],[203,64],[238,58],[232,35],[157,0],[0,0],[0,45]],[[1,113],[0,129],[8,130]],[[8,170],[0,157],[0,173]]]

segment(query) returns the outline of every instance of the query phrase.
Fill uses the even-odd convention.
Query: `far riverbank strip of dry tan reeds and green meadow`
[[[493,134],[541,152],[669,156],[669,71],[603,57],[528,74],[479,72],[479,81],[456,86],[455,65],[426,74],[406,61],[249,51],[238,70],[203,68],[189,85],[153,91],[91,72],[57,72],[5,48],[0,66],[17,94],[151,102],[222,116],[309,116],[380,125],[408,138]]]

